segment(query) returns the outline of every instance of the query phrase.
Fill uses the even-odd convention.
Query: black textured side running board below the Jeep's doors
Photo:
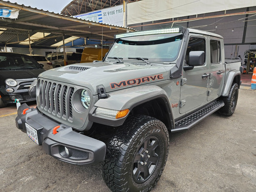
[[[224,106],[224,102],[222,100],[215,101],[214,103],[206,106],[205,108],[197,111],[184,119],[181,119],[175,123],[175,129],[171,130],[171,132],[178,132],[183,130],[188,130],[190,127],[202,121],[204,118],[208,117],[212,113],[216,112],[220,108]]]

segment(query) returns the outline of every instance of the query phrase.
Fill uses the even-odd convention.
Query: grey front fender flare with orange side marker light
[[[110,126],[120,126],[136,106],[157,98],[160,98],[164,101],[168,111],[170,125],[173,127],[174,118],[167,94],[160,87],[153,85],[133,87],[109,93],[108,98],[99,99],[94,104],[93,108],[89,112],[89,121]],[[96,115],[95,111],[97,108],[104,108],[115,111],[129,109],[130,112],[123,118],[114,119]]]

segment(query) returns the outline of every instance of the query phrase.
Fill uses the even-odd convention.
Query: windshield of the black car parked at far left
[[[0,70],[40,69],[32,57],[14,53],[0,53]]]

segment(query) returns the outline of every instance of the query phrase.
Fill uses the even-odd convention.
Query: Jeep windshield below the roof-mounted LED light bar
[[[182,38],[181,33],[119,38],[106,56],[106,60],[117,57],[122,61],[136,58],[159,62],[174,61],[178,57]]]

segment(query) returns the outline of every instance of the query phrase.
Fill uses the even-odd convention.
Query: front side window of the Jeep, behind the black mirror
[[[189,52],[190,51],[204,51],[205,53],[205,39],[199,37],[190,37],[188,41],[187,51],[186,51],[186,63],[189,65]],[[204,54],[206,55],[206,54]],[[205,62],[205,56],[204,56]]]

